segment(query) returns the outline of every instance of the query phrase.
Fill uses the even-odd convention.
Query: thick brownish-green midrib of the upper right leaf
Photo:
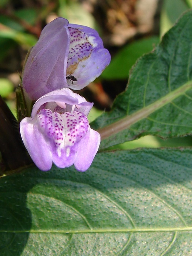
[[[106,127],[98,129],[98,132],[101,135],[101,139],[106,139],[113,134],[123,131],[131,127],[131,125],[137,123],[138,121],[142,120],[143,118],[148,117],[150,114],[154,113],[156,110],[162,108],[166,104],[172,102],[174,99],[178,98],[186,91],[192,88],[192,81],[185,83],[183,86],[179,87],[178,89],[168,93],[166,96],[158,99],[154,103],[136,111],[135,113],[118,120],[117,122],[110,124]]]

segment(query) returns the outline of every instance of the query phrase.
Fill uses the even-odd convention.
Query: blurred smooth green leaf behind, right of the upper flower
[[[153,50],[159,42],[159,37],[140,39],[125,46],[112,59],[110,65],[102,73],[104,79],[128,79],[129,71],[136,60],[144,53]]]

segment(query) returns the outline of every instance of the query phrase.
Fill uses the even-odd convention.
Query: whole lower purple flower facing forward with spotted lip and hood
[[[31,117],[20,122],[20,134],[35,165],[50,170],[75,165],[85,171],[100,144],[100,135],[90,128],[87,115],[93,103],[70,89],[42,96],[34,104]]]

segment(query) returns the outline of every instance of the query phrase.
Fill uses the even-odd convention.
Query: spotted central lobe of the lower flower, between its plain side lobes
[[[50,141],[52,161],[57,167],[71,166],[78,153],[76,147],[89,129],[87,117],[81,112],[52,113],[41,109],[37,114],[39,132]]]

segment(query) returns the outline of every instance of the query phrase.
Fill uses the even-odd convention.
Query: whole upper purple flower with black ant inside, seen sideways
[[[97,31],[57,18],[41,32],[23,71],[23,88],[37,100],[50,91],[69,87],[80,90],[110,63]]]

